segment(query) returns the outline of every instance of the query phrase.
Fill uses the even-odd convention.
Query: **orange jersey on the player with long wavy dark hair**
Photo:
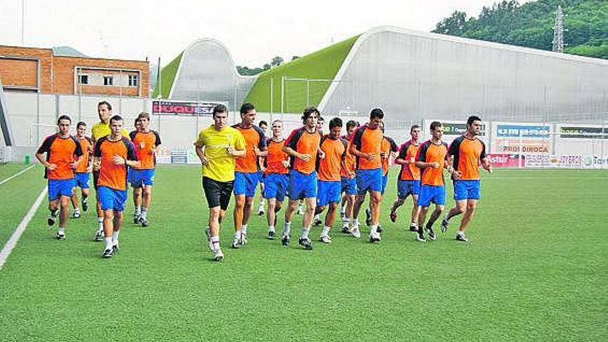
[[[292,134],[285,140],[285,146],[302,154],[310,155],[310,160],[305,162],[300,158],[291,157],[291,167],[293,170],[310,175],[316,166],[316,153],[321,144],[321,133],[314,131],[310,133],[304,127],[294,129]]]

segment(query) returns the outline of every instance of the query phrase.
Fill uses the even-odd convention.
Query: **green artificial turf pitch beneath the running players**
[[[405,228],[410,200],[397,223],[388,220],[395,188],[393,178],[374,245],[365,227],[357,240],[336,223],[332,245],[305,251],[296,216],[292,245],[282,247],[253,216],[249,245],[230,249],[229,211],[222,263],[207,249],[198,167],[159,167],[150,227],[130,222],[130,202],[122,249],[109,260],[93,242],[91,210],[57,241],[43,205],[0,271],[1,340],[608,339],[608,171],[484,174],[469,243],[453,240],[458,220],[417,243]]]

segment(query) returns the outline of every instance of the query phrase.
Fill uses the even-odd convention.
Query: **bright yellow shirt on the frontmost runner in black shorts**
[[[245,138],[232,127],[225,127],[217,131],[213,125],[198,133],[195,146],[205,146],[205,156],[209,158],[209,164],[202,166],[202,176],[217,180],[218,182],[229,182],[234,180],[234,157],[228,154],[227,147],[232,146],[236,150],[245,149]]]

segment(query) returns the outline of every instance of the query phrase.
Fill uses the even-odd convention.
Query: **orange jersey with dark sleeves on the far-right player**
[[[479,163],[486,158],[486,144],[475,137],[457,137],[448,150],[454,156],[454,169],[462,172],[462,180],[479,179]]]

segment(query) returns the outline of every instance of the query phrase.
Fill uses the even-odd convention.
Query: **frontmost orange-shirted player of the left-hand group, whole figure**
[[[110,135],[95,142],[93,167],[99,171],[97,196],[104,211],[104,258],[112,258],[120,249],[118,236],[124,218],[128,167],[140,167],[135,146],[122,135],[124,120],[120,115],[110,119]]]

